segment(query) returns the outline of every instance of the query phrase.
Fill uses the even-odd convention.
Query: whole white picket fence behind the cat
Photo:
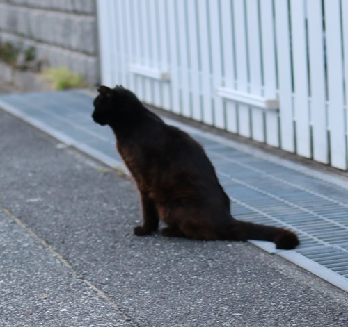
[[[97,5],[102,83],[347,170],[348,0]]]

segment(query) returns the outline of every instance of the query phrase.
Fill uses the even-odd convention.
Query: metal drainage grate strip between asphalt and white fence
[[[114,136],[90,119],[93,96],[79,91],[6,94],[0,107],[112,167],[124,167]],[[284,226],[301,246],[278,251],[251,241],[348,292],[348,183],[231,140],[165,119],[203,144],[237,219]]]

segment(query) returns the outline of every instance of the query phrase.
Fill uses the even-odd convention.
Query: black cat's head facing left
[[[93,101],[93,120],[102,126],[111,124],[120,114],[127,110],[129,104],[136,99],[135,95],[122,86],[115,88],[100,86],[97,88],[99,95]]]

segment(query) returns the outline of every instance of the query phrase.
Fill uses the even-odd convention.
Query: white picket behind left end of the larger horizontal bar
[[[220,42],[221,39],[219,3],[216,3],[215,0],[209,0],[209,27],[210,47],[212,53],[212,81],[213,87],[216,87],[222,85],[222,60]],[[223,99],[221,97],[214,97],[213,105],[214,126],[218,128],[225,128],[225,113],[223,110]]]

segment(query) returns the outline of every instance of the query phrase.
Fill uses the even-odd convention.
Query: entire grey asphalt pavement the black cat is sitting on
[[[0,326],[348,326],[290,262],[140,221],[131,178],[0,110]]]

